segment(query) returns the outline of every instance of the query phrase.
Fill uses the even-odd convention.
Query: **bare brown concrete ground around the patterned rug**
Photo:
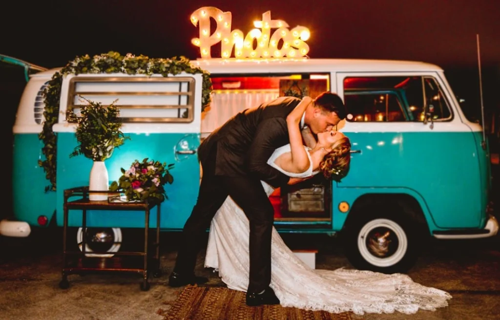
[[[316,268],[350,268],[339,241],[325,235],[284,234],[290,245],[316,245]],[[149,291],[139,289],[137,274],[69,276],[70,287],[58,287],[61,278],[61,232],[32,239],[0,237],[0,319],[161,320],[158,309],[168,309],[180,292],[166,285],[174,263],[177,233],[161,236],[163,275],[151,277]],[[208,285],[224,285],[216,273],[203,269]],[[449,306],[416,314],[365,314],[355,319],[498,319],[500,316],[500,238],[470,241],[433,241],[409,275],[417,282],[450,292]]]

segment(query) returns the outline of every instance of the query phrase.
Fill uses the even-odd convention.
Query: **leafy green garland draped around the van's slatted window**
[[[180,56],[172,58],[149,58],[144,55],[134,56],[130,53],[121,55],[118,52],[110,51],[90,57],[88,54],[77,56],[69,61],[61,70],[55,72],[47,87],[43,91],[44,111],[43,129],[38,134],[38,138],[43,141],[42,152],[45,160],[38,160],[38,165],[43,167],[45,177],[50,181],[50,185],[45,187],[45,191],[55,191],[56,174],[56,152],[57,136],[52,131],[52,125],[57,123],[59,115],[59,100],[62,79],[68,74],[80,73],[118,73],[127,74],[161,74],[163,76],[176,75],[181,72],[195,74],[201,73],[203,76],[201,93],[201,112],[209,110],[211,81],[208,71],[193,66],[189,59]]]

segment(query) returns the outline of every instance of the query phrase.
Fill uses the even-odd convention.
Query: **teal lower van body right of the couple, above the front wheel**
[[[346,194],[353,190],[360,195],[356,188],[414,190],[425,199],[426,208],[422,210],[428,210],[436,228],[483,225],[483,189],[479,187],[483,182],[477,171],[471,169],[477,167],[478,154],[470,131],[345,134],[352,149],[360,150],[352,154],[351,170],[338,184],[338,189],[345,189],[342,194],[351,201],[355,196]],[[344,200],[335,193],[333,199]]]

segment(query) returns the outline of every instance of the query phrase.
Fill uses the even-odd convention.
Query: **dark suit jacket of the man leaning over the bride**
[[[286,184],[289,177],[266,162],[276,148],[289,143],[286,116],[299,102],[283,96],[237,113],[200,144],[201,164],[215,156],[215,175],[251,175],[274,187]]]

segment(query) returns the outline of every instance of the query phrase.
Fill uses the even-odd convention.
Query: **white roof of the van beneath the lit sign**
[[[376,59],[197,59],[192,64],[210,73],[281,73],[324,71],[442,71],[442,68],[421,61],[376,60]],[[265,65],[264,71],[257,65]],[[229,69],[230,68],[230,69]],[[32,74],[32,77],[51,77],[61,68],[53,68]]]

